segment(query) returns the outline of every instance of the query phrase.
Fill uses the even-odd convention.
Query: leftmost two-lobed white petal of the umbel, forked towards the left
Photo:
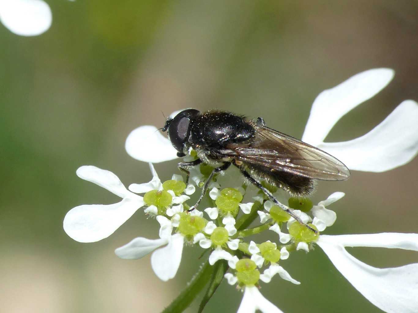
[[[127,190],[112,172],[82,166],[76,174],[122,198],[115,204],[84,204],[71,209],[64,217],[64,230],[76,241],[95,242],[112,235],[144,205],[143,197]]]

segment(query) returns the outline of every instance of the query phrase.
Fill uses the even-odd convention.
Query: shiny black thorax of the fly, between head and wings
[[[254,135],[254,127],[243,116],[207,111],[191,122],[188,142],[193,148],[223,149],[230,144],[250,142]]]

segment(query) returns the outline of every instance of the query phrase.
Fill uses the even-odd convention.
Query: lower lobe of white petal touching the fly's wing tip
[[[418,151],[418,104],[403,101],[387,118],[359,138],[317,147],[349,169],[385,172],[410,162]]]

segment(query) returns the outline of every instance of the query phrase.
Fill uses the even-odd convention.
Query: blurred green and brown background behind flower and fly
[[[372,129],[401,101],[418,100],[415,0],[46,2],[53,23],[43,35],[20,37],[0,24],[1,312],[159,312],[186,285],[199,248],[184,250],[167,283],[153,274],[149,256],[114,255],[133,237],[157,237],[158,223],[142,210],[96,243],[75,242],[62,229],[72,207],[118,201],[76,177],[79,166],[108,169],[126,186],[150,179],[148,164],[128,156],[124,144],[140,125],[162,126],[161,111],[263,116],[300,137],[319,92],[370,68],[395,69],[393,82],[327,138],[343,141]],[[176,161],[155,167],[161,179],[177,171]],[[327,233],[417,232],[417,167],[414,159],[319,183],[314,202],[347,194],[333,205],[338,218]],[[398,250],[350,252],[380,267],[418,260]],[[282,265],[302,284],[275,278],[262,292],[286,313],[381,312],[319,248]],[[235,312],[241,296],[222,284],[205,312]]]

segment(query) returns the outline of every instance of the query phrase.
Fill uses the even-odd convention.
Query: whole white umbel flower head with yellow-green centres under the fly
[[[418,104],[412,100],[400,103],[382,123],[364,136],[345,142],[324,142],[328,132],[344,114],[374,96],[392,78],[390,69],[373,69],[320,93],[312,106],[302,140],[336,156],[351,170],[383,172],[409,162],[418,151]],[[177,158],[177,151],[168,139],[156,132],[154,126],[135,129],[127,138],[126,150],[135,159],[145,162],[158,163]],[[191,150],[184,161],[196,157],[195,151]],[[303,278],[298,278],[301,281],[292,278],[281,260],[288,259],[296,250],[309,252],[316,245],[354,288],[378,308],[385,312],[418,312],[418,263],[398,268],[375,268],[357,260],[345,249],[385,247],[418,251],[418,234],[323,235],[322,232],[336,221],[332,207],[334,202],[342,201],[343,192],[334,192],[316,205],[308,198],[275,194],[281,203],[288,203],[295,218],[318,231],[315,233],[269,201],[263,192],[251,194],[245,184],[223,186],[222,179],[217,177],[210,181],[209,205],[202,207],[201,204],[202,210],[198,210],[200,207],[195,208],[194,202],[188,202],[196,187],[201,188],[202,182],[211,178],[212,169],[205,164],[191,171],[189,181],[193,184],[186,184],[176,174],[162,182],[152,164],[150,169],[153,176],[150,182],[131,184],[128,190],[111,172],[93,166],[80,167],[77,170],[79,177],[108,189],[122,200],[116,204],[81,205],[71,209],[64,219],[64,230],[80,242],[101,240],[143,207],[144,213],[155,217],[159,224],[159,232],[153,236],[157,238],[137,237],[117,248],[115,253],[124,259],[138,259],[151,253],[152,268],[164,281],[175,277],[185,243],[208,250],[208,260],[181,298],[166,309],[168,312],[184,310],[193,300],[187,298],[188,295],[195,295],[187,291],[206,284],[212,277],[202,309],[212,296],[210,290],[216,290],[221,282],[219,277],[224,276],[229,284],[243,291],[237,312],[280,313],[282,311],[264,298],[259,288],[270,283],[276,274],[286,280],[284,283],[309,283]],[[260,222],[255,225],[258,218]],[[257,242],[247,239],[265,231],[270,233],[271,240]],[[216,266],[219,264],[224,266]],[[216,269],[211,272],[212,267]]]

